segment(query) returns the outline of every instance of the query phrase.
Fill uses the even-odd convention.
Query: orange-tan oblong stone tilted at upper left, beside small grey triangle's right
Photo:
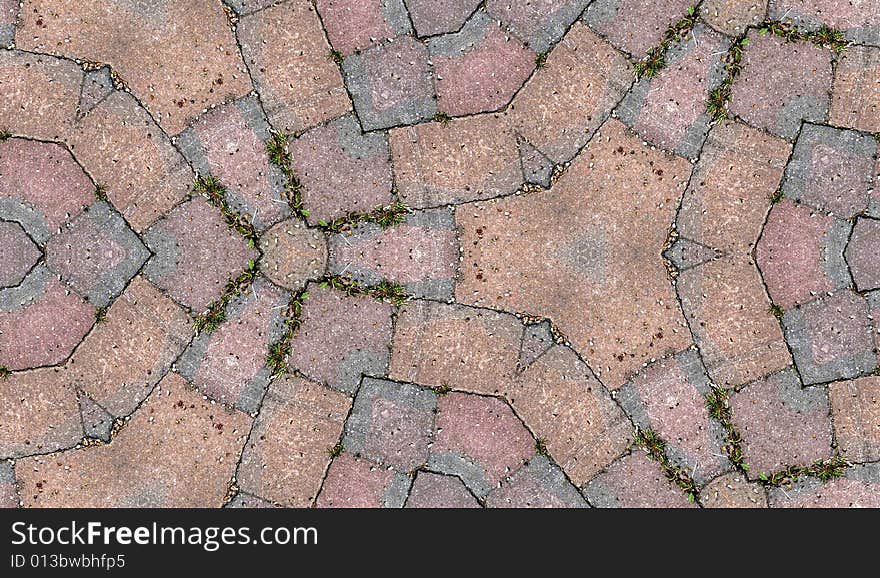
[[[70,148],[138,233],[183,199],[192,183],[184,158],[124,92],[92,109],[71,136]]]

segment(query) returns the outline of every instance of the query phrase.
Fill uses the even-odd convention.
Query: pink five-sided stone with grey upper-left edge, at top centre
[[[452,116],[505,106],[535,69],[535,52],[480,12],[455,35],[428,43],[437,108]]]

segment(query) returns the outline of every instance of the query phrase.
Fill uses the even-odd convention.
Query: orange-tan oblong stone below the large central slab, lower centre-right
[[[629,446],[629,420],[568,348],[551,348],[507,389],[517,415],[578,486]]]

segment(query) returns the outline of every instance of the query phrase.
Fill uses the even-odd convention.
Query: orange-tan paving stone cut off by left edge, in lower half
[[[58,369],[13,373],[0,387],[0,459],[72,447],[83,437],[76,392]]]

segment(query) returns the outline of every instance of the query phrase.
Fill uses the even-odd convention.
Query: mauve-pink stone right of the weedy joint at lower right
[[[831,457],[825,389],[802,389],[791,369],[734,393],[730,409],[733,424],[742,435],[749,478]]]

